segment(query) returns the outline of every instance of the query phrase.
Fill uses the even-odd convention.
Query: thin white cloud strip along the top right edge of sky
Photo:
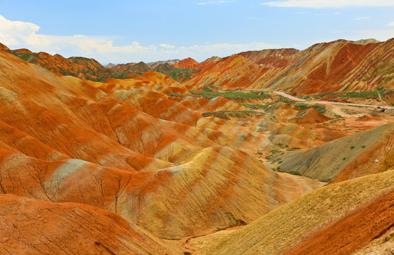
[[[270,1],[262,4],[275,7],[328,8],[346,6],[394,6],[394,0],[287,0]]]

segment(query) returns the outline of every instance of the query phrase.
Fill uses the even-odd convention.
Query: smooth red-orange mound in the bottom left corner
[[[0,195],[1,254],[182,254],[89,205]]]

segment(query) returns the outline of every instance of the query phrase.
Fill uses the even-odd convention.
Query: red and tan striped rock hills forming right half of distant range
[[[241,52],[238,56],[246,60],[229,61],[237,58],[234,55],[212,65],[200,63],[202,72],[195,74],[187,84],[225,89],[283,90],[295,95],[393,89],[393,48],[394,38],[365,43],[336,40],[312,45],[302,51]]]

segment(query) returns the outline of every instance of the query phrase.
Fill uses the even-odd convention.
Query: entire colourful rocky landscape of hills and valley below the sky
[[[0,254],[386,249],[394,110],[292,103],[262,90],[389,88],[392,43],[339,40],[178,63],[195,70],[140,62],[103,72],[94,60],[0,45]]]

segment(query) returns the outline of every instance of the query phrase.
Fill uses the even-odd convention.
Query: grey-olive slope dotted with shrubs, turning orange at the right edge
[[[394,123],[388,123],[304,152],[288,152],[280,169],[334,182],[376,174],[394,166],[393,143]]]

